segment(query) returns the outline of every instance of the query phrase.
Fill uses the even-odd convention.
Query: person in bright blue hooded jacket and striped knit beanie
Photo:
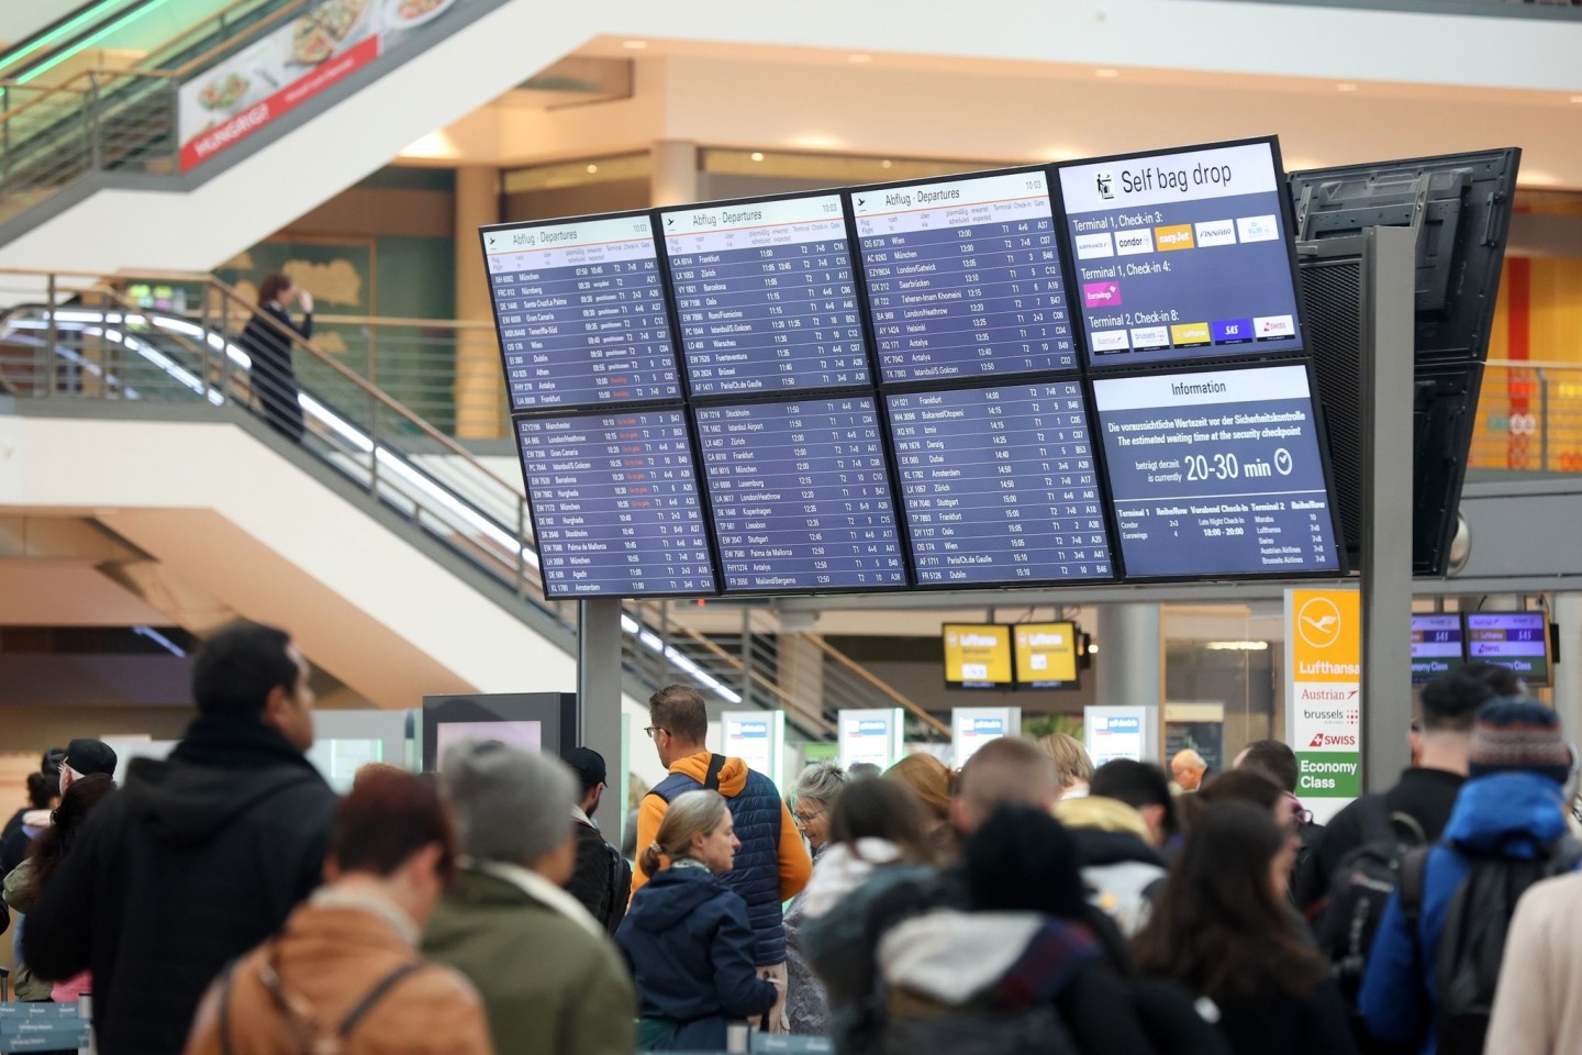
[[[1357,1000],[1376,1039],[1419,1044],[1422,1055],[1438,1052],[1435,957],[1451,900],[1471,870],[1468,857],[1535,860],[1568,830],[1563,789],[1571,751],[1560,720],[1544,704],[1511,698],[1485,704],[1473,728],[1467,769],[1444,838],[1429,851],[1424,867],[1416,946],[1397,889],[1380,921]]]

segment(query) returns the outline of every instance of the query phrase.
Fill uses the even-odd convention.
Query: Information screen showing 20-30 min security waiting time
[[[1305,364],[1093,381],[1128,579],[1338,573]]]

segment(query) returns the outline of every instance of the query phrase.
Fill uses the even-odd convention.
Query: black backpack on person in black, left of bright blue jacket
[[[1416,818],[1392,813],[1381,794],[1357,800],[1357,819],[1362,845],[1340,859],[1329,881],[1329,897],[1313,916],[1313,936],[1329,957],[1330,976],[1353,1012],[1373,935],[1384,919],[1389,895],[1400,886],[1402,857],[1427,841]]]

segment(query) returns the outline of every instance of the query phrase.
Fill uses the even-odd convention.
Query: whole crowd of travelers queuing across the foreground
[[[1582,1052],[1577,754],[1501,667],[1424,686],[1411,767],[1327,824],[1278,740],[1166,772],[1006,737],[782,796],[672,685],[630,859],[587,748],[335,796],[308,674],[242,623],[168,759],[46,754],[0,835],[21,1000],[92,995],[104,1055]]]

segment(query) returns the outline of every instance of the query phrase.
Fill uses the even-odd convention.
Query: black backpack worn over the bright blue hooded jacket
[[[1433,954],[1433,1028],[1440,1055],[1482,1055],[1516,903],[1530,886],[1574,870],[1579,860],[1582,843],[1569,835],[1533,860],[1467,856],[1470,870],[1451,895]],[[1427,862],[1427,846],[1402,862],[1402,909],[1413,921],[1413,935]]]

